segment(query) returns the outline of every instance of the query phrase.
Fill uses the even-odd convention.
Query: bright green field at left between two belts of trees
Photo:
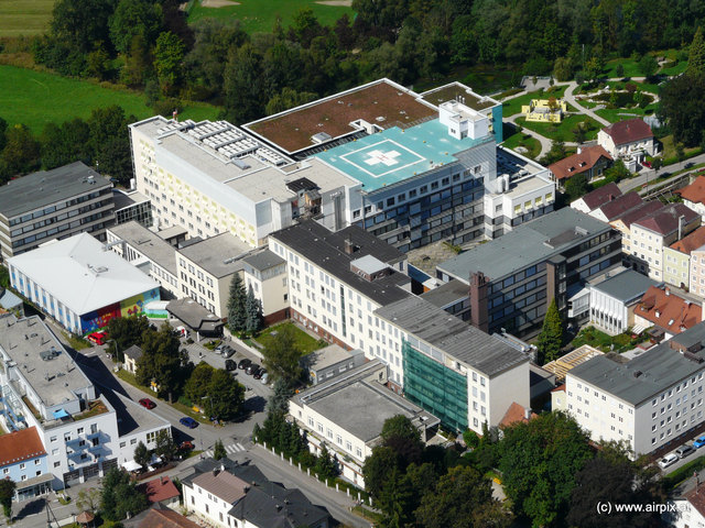
[[[46,123],[88,118],[96,108],[121,106],[126,113],[144,119],[153,111],[138,92],[104,88],[100,85],[58,75],[0,65],[0,117],[8,123],[24,123],[34,133]],[[218,108],[193,103],[181,113],[183,119],[215,119]]]

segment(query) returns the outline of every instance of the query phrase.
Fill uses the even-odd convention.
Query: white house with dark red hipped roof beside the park
[[[653,156],[657,143],[649,127],[641,118],[626,119],[605,127],[597,133],[597,144],[604,147],[612,158],[636,158]]]

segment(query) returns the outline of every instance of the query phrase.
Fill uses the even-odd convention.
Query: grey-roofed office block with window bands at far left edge
[[[105,240],[105,229],[115,222],[111,188],[110,182],[82,162],[0,187],[2,260],[82,232]]]

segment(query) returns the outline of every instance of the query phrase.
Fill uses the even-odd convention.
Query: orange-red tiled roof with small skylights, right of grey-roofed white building
[[[634,315],[673,334],[694,327],[703,319],[703,311],[699,305],[679,297],[671,293],[668,287],[661,289],[657,286],[651,286],[643,294],[641,301],[634,308]]]

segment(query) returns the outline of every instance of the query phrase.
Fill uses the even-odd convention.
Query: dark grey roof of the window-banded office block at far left
[[[95,183],[90,183],[89,176]],[[0,213],[15,217],[111,185],[93,168],[75,162],[13,179],[0,187]]]

